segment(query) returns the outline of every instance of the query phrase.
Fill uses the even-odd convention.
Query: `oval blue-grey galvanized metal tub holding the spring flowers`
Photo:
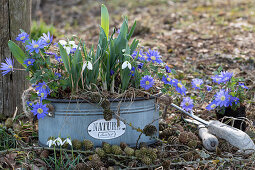
[[[125,142],[135,146],[140,132],[132,129],[129,123],[136,128],[143,129],[148,124],[153,124],[158,129],[159,111],[155,99],[137,98],[133,101],[122,101],[120,104],[120,117],[126,122],[103,119],[103,109],[97,104],[86,103],[81,100],[51,100],[55,108],[52,117],[46,116],[39,119],[39,145],[46,146],[48,138],[71,137],[71,139],[91,140],[94,146],[101,146],[102,142],[119,145]],[[111,101],[111,110],[116,111],[119,101]],[[158,131],[157,131],[158,135]],[[151,139],[144,134],[139,142],[151,144]]]

